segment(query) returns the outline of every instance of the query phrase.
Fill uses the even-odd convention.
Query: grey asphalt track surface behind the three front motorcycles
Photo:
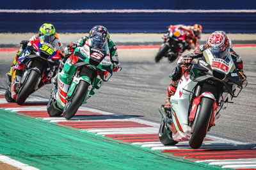
[[[234,104],[228,104],[227,109],[221,111],[221,116],[210,133],[256,143],[255,48],[239,47],[234,50],[243,56],[248,86],[238,98],[234,98]],[[175,63],[170,64],[166,59],[158,64],[154,63],[156,52],[157,49],[118,50],[122,71],[114,73],[86,106],[160,122],[161,116],[157,109],[164,103],[166,88],[170,83],[168,75]],[[0,89],[6,88],[5,73],[14,55],[15,52],[0,52]],[[33,95],[49,98],[50,89],[51,85],[47,85]]]

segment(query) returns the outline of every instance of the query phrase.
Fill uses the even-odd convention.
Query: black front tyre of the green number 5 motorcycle
[[[69,120],[76,114],[80,105],[83,104],[83,100],[86,97],[86,93],[89,86],[90,84],[88,84],[88,82],[85,82],[85,81],[79,82],[77,90],[74,91],[73,96],[70,98],[70,100],[68,101],[68,103],[64,108],[64,111],[63,111],[64,118]]]

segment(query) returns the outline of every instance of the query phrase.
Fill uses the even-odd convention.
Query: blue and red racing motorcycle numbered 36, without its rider
[[[12,81],[8,81],[5,92],[6,101],[21,105],[31,93],[49,84],[60,64],[59,49],[52,36],[39,36],[28,42],[18,59],[24,69],[17,66],[13,71]]]

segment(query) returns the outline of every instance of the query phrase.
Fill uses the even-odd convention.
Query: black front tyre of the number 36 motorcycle
[[[40,73],[36,72],[35,70],[31,70],[31,72],[28,75],[28,79],[26,79],[16,97],[15,102],[17,104],[23,104],[25,100],[29,97],[29,95],[34,92],[36,82],[38,81],[39,77]]]

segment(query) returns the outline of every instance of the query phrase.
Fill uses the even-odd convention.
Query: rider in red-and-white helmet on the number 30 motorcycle
[[[179,79],[182,74],[184,74],[188,70],[189,66],[191,65],[192,59],[201,58],[205,49],[211,49],[212,52],[221,52],[223,58],[227,57],[228,53],[230,53],[235,63],[237,72],[239,73],[239,75],[241,75],[240,81],[243,82],[244,86],[246,86],[247,81],[246,75],[243,72],[243,61],[241,56],[234,52],[234,50],[232,49],[231,40],[230,38],[228,38],[224,31],[214,31],[214,33],[212,33],[207,39],[207,43],[205,45],[201,45],[193,53],[186,56],[180,56],[180,58],[178,59],[178,66],[176,66],[173,69],[173,72],[169,75],[170,79],[172,79],[172,82],[167,88],[167,97],[164,104],[164,109],[170,109],[170,97],[175,94]]]

